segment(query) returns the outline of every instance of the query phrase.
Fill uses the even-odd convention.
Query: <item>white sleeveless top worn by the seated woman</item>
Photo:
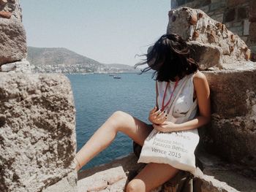
[[[170,95],[173,92],[170,103],[165,107],[167,112],[167,120],[173,123],[184,123],[184,121],[191,120],[197,115],[197,99],[193,101],[194,96],[194,74],[189,74],[178,81],[175,91],[175,82],[170,81],[165,95],[165,102],[170,99]],[[159,109],[162,108],[162,99],[165,93],[167,82],[157,81],[158,96],[157,104]]]

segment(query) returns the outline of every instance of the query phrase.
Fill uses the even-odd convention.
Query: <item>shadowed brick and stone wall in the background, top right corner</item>
[[[256,61],[256,2],[255,0],[172,0],[172,8],[201,9],[208,16],[238,34],[252,50]]]

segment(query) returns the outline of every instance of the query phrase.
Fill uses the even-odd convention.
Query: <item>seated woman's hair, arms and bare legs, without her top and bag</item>
[[[163,99],[162,106],[159,106],[157,101],[157,106],[150,110],[148,115],[148,120],[152,123],[150,125],[132,117],[132,115],[126,112],[114,112],[76,154],[77,170],[108,147],[113,139],[115,139],[118,131],[127,134],[138,145],[143,146],[144,140],[153,128],[165,132],[181,131],[198,128],[209,122],[211,112],[208,82],[205,75],[198,71],[197,64],[189,58],[187,43],[177,34],[165,34],[157,40],[146,56],[146,61],[142,64],[147,63],[148,68],[144,69],[143,72],[146,72],[148,69],[156,71],[154,74],[157,74],[157,100],[159,100],[159,90],[157,87],[159,82],[170,82],[171,84],[174,81],[181,81],[187,75],[192,75],[193,91],[195,92],[199,110],[198,115],[185,123],[167,121],[167,115],[169,114],[167,110],[161,109],[163,109],[163,106],[167,106],[167,101],[171,100],[172,96]],[[170,87],[168,89],[170,91]],[[128,183],[126,191],[151,191],[167,180],[170,180],[177,173],[178,169],[169,164],[149,163]]]

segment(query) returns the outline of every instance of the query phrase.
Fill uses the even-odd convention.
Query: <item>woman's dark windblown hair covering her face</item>
[[[157,42],[148,48],[146,60],[136,64],[148,64],[148,67],[141,70],[155,70],[152,78],[157,73],[156,80],[159,81],[175,81],[175,77],[183,78],[187,74],[197,71],[198,65],[189,57],[189,47],[187,43],[178,34],[164,34]]]

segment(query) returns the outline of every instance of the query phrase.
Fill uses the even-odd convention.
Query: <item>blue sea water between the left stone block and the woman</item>
[[[151,73],[118,74],[121,79],[113,79],[109,74],[66,75],[75,97],[77,150],[117,110],[149,123],[148,112],[155,105],[155,81],[151,79]],[[118,133],[112,144],[83,169],[108,163],[129,153],[132,153],[132,139]]]

